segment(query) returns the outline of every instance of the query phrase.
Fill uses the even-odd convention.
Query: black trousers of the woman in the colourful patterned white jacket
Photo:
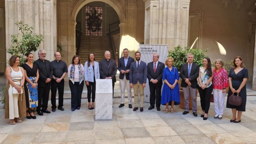
[[[79,82],[72,83],[71,80],[68,81],[70,91],[71,91],[71,108],[76,109],[81,106],[82,92],[84,89],[84,81],[79,84]]]

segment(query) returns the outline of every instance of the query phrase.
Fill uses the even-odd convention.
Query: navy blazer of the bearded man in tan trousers
[[[138,81],[140,84],[147,82],[147,64],[146,62],[140,61],[139,68],[137,69],[137,61],[132,62],[130,66],[130,84],[137,84]]]

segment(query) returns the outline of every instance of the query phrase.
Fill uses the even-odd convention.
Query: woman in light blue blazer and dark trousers
[[[99,63],[95,61],[94,53],[90,52],[88,55],[88,61],[84,64],[84,79],[87,87],[87,99],[88,109],[94,109],[95,91],[96,91],[96,79],[100,79]],[[92,105],[91,105],[92,94]]]

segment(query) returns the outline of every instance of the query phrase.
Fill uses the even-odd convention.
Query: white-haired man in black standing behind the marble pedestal
[[[110,59],[111,55],[109,51],[105,52],[105,58],[100,60],[99,67],[100,67],[100,79],[112,79],[112,89],[113,89],[113,95],[114,97],[114,86],[116,82],[116,61]]]

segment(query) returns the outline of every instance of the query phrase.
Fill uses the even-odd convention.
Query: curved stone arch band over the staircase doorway
[[[76,16],[77,16],[79,10],[83,6],[85,6],[86,4],[88,4],[90,2],[95,2],[95,1],[105,2],[105,3],[109,4],[110,6],[112,6],[112,8],[114,8],[116,13],[118,14],[120,23],[125,23],[126,22],[126,17],[125,17],[125,14],[124,14],[124,10],[123,10],[122,5],[120,4],[119,0],[79,0],[74,5],[74,8],[72,10],[71,20],[76,21]]]

